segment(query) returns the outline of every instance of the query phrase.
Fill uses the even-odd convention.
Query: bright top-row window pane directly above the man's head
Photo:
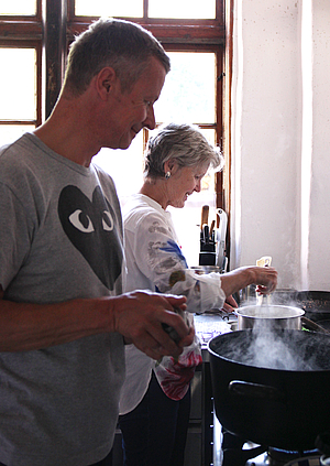
[[[76,0],[77,17],[143,17],[143,0]]]

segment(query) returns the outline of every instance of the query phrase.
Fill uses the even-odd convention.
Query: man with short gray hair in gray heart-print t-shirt
[[[92,163],[101,148],[127,149],[155,128],[168,71],[144,29],[99,20],[72,45],[51,117],[0,150],[2,465],[106,465],[124,340],[154,359],[193,342],[173,312],[185,297],[123,294],[120,205],[112,178]]]

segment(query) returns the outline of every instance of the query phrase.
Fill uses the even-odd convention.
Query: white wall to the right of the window
[[[231,268],[330,290],[330,2],[235,0]]]

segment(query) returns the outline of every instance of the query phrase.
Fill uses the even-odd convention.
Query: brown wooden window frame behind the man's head
[[[215,51],[217,54],[217,115],[215,129],[226,155],[226,169],[217,174],[217,206],[230,212],[230,90],[233,0],[217,0],[215,20],[169,20],[147,18],[148,0],[143,0],[143,18],[125,18],[151,31],[168,51]],[[37,53],[37,117],[41,124],[58,97],[67,45],[88,28],[91,17],[76,17],[74,0],[37,0],[33,17],[0,17],[0,45],[29,47]],[[45,52],[46,51],[46,52]],[[43,63],[42,63],[43,62]],[[226,69],[226,73],[224,73]],[[18,121],[26,123],[26,121]],[[31,121],[29,121],[31,123]],[[208,126],[206,126],[208,127]]]

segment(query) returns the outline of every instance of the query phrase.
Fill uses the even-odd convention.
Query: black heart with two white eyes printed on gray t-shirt
[[[121,273],[122,250],[114,227],[114,213],[97,186],[92,201],[77,186],[63,188],[58,199],[62,227],[105,286],[113,290]]]

